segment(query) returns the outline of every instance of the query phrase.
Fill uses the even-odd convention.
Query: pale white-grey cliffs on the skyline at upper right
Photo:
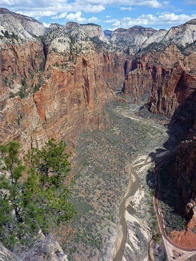
[[[155,30],[134,26],[129,29],[118,28],[111,37],[110,42],[128,53],[136,53],[150,44],[154,46],[175,44],[185,47],[196,40],[196,19],[192,19],[170,30]]]

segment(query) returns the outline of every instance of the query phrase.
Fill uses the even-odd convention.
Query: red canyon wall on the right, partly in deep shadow
[[[137,55],[130,63],[123,94],[137,96],[149,93],[149,110],[170,117],[171,125],[182,127],[186,139],[178,149],[175,177],[184,203],[190,202],[190,199],[195,201],[196,54],[184,56],[171,45],[163,52]]]

